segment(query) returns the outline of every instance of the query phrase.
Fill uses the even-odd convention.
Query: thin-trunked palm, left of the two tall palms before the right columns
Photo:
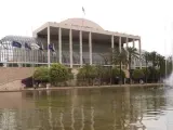
[[[127,51],[121,48],[121,51],[119,49],[114,49],[112,51],[112,63],[115,65],[120,65],[120,83],[122,83],[122,64],[128,64],[128,53]]]

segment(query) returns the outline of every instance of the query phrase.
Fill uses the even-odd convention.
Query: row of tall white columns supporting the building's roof
[[[62,29],[63,28],[58,28],[58,62],[62,64]],[[85,32],[85,31],[84,31]],[[83,65],[83,51],[82,51],[82,34],[83,31],[82,30],[79,30],[79,49],[80,49],[80,66]],[[115,36],[115,35],[110,35],[110,39],[111,39],[111,48],[114,49],[115,48],[115,37],[118,37],[119,38],[119,50],[121,52],[121,44],[122,44],[122,37],[121,36]],[[133,39],[133,47],[135,48],[135,41],[136,39]],[[141,39],[137,39],[138,41],[138,50],[139,50],[139,60],[142,57],[142,52],[141,52]],[[127,37],[127,47],[129,47],[129,38]],[[50,26],[48,26],[48,48],[49,48],[49,44],[51,43],[50,41]],[[90,65],[93,64],[93,60],[92,60],[92,32],[89,31],[89,62],[90,62]],[[72,61],[72,29],[69,29],[69,66],[70,68],[72,68],[74,66],[74,61]],[[50,50],[48,50],[48,65],[50,67],[50,64],[51,64],[51,60],[50,60]],[[134,63],[135,64],[135,63]],[[139,67],[142,68],[142,63],[139,64]]]

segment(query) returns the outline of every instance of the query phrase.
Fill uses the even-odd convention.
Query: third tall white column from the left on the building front
[[[72,30],[69,30],[69,63],[72,68]]]

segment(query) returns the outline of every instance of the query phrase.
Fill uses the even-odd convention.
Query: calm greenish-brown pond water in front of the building
[[[0,93],[0,130],[172,130],[173,89]]]

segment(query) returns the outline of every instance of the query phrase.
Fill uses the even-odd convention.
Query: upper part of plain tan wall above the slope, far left
[[[32,67],[0,67],[0,86],[22,80],[34,74]]]

